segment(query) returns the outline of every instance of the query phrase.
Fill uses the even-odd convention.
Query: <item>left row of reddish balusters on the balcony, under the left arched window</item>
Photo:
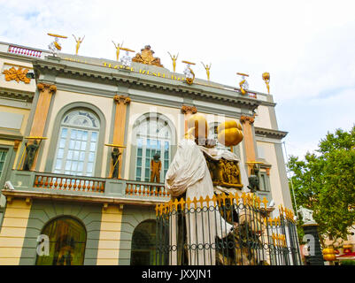
[[[56,176],[55,174],[35,174],[34,187],[58,189],[67,191],[81,191],[104,193],[105,180],[90,177]]]

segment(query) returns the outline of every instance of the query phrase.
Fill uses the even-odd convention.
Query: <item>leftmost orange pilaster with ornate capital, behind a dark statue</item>
[[[44,126],[47,121],[48,111],[50,110],[51,97],[56,93],[57,87],[55,85],[47,83],[38,83],[37,89],[39,90],[38,102],[35,107],[35,116],[32,122],[30,136],[42,137],[44,132]],[[28,142],[28,145],[33,143],[33,140]],[[24,149],[26,150],[26,149]],[[34,170],[37,163],[38,149],[35,155],[35,161],[32,164],[30,170]]]

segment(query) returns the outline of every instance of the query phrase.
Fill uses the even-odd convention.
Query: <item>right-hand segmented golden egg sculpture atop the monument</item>
[[[237,145],[243,140],[242,126],[235,120],[227,120],[217,127],[218,141],[226,147]]]

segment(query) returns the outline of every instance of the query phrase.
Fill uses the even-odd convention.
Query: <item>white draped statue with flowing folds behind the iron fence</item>
[[[197,200],[202,196],[203,199],[208,195],[210,199],[213,196],[213,185],[211,174],[208,170],[204,154],[191,139],[183,139],[178,145],[178,149],[166,172],[166,189],[172,196],[178,197],[186,192],[186,200],[191,201],[194,197]],[[204,206],[209,207],[212,202]],[[197,207],[199,203],[197,203]],[[191,203],[194,207],[194,203]],[[217,206],[218,207],[218,206]],[[171,223],[177,223],[172,219]],[[171,244],[176,244],[177,227],[171,230]],[[216,245],[215,236],[220,239],[226,237],[233,231],[233,226],[228,224],[220,216],[219,210],[207,210],[205,212],[193,212],[186,215],[187,244],[204,245],[203,249],[189,249],[189,264],[212,265],[216,263]],[[179,235],[181,236],[181,235]],[[212,246],[211,246],[212,245]],[[191,246],[190,246],[191,247]],[[210,247],[209,249],[206,247]],[[173,252],[174,253],[174,252]],[[174,258],[174,256],[172,256]],[[173,260],[174,261],[174,260]],[[170,264],[177,264],[171,262]]]

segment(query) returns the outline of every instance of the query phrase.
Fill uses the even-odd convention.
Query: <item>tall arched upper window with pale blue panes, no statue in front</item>
[[[62,119],[53,172],[92,176],[95,170],[100,122],[85,109],[66,113]]]

